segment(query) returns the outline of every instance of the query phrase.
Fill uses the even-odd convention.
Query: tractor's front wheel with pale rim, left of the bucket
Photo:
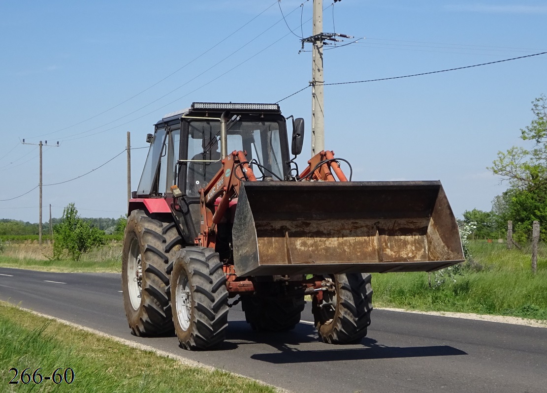
[[[228,327],[226,275],[218,253],[205,247],[179,251],[171,274],[173,323],[181,347],[211,349]]]

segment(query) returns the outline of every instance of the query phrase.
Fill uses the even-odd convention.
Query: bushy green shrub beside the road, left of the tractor
[[[63,217],[60,224],[55,225],[54,232],[54,259],[61,259],[65,253],[68,253],[74,260],[79,261],[82,254],[106,244],[104,232],[96,227],[90,227],[82,220],[78,216],[74,203],[69,203],[63,209]]]

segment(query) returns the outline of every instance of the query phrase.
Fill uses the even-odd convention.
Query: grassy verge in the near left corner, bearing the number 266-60
[[[154,393],[188,392],[275,392],[272,386],[237,377],[228,372],[189,367],[150,351],[138,350],[112,339],[84,332],[56,321],[0,303],[0,370],[2,391],[78,391]],[[61,367],[74,371],[74,380],[54,384],[9,384],[15,372],[51,377]],[[59,372],[58,372],[59,373]],[[70,372],[67,374],[70,376]],[[24,377],[25,382],[27,377]],[[36,377],[39,380],[39,377]],[[56,377],[59,381],[59,377]]]

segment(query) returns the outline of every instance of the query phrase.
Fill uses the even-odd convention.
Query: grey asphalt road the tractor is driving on
[[[547,392],[539,327],[374,310],[368,337],[338,346],[318,341],[309,307],[294,331],[265,334],[235,306],[223,347],[190,352],[174,336],[131,335],[120,274],[0,268],[0,300],[294,392]]]

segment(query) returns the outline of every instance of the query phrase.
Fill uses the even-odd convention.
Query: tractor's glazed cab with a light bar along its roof
[[[303,124],[296,127],[303,134]],[[165,197],[177,185],[188,198],[199,198],[232,151],[246,152],[259,180],[286,180],[290,173],[286,119],[277,104],[195,102],[165,115],[147,140],[136,197]]]

